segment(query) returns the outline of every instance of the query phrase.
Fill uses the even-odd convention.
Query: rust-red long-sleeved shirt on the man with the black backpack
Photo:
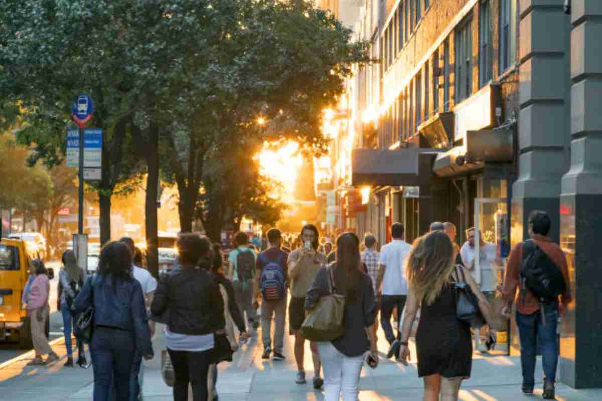
[[[552,242],[548,237],[534,234],[533,240],[544,251],[551,260],[558,266],[562,275],[565,278],[566,292],[560,296],[560,300],[563,304],[571,302],[571,281],[568,277],[568,267],[566,266],[566,257],[560,246]],[[510,256],[508,257],[508,263],[506,265],[506,277],[504,278],[504,286],[502,293],[504,300],[507,305],[512,305],[512,302],[516,299],[517,310],[521,314],[532,314],[539,310],[539,301],[528,289],[524,296],[520,295],[520,291],[517,293],[517,287],[520,283],[520,271],[523,263],[523,242],[517,243],[512,248]]]

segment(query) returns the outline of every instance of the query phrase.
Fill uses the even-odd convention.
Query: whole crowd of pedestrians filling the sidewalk
[[[85,277],[75,254],[66,251],[57,304],[66,337],[65,366],[73,366],[71,334],[75,322],[92,308],[94,399],[136,400],[142,386],[142,360],[154,357],[151,338],[157,320],[164,323],[173,365],[174,400],[187,400],[190,390],[194,401],[217,400],[217,364],[232,361],[232,354],[239,344],[246,343],[250,330],[261,326],[264,360],[285,360],[288,310],[288,332],[294,336],[297,365],[295,382],[305,384],[306,317],[325,297],[336,294],[344,297],[340,333],[330,341],[310,341],[309,346],[314,365],[312,385],[324,387],[326,401],[340,397],[356,401],[364,362],[372,368],[379,364],[379,312],[389,343],[387,358],[407,364],[409,340],[415,337],[423,399],[457,400],[462,381],[472,373],[473,338],[477,350],[491,349],[494,329],[504,329],[516,304],[521,391],[533,393],[539,343],[545,373],[543,396],[553,399],[557,320],[571,301],[571,291],[563,251],[547,237],[550,225],[550,218],[541,210],[529,216],[531,238],[510,252],[503,283],[498,281],[498,269],[506,260],[496,253],[495,245],[479,235],[477,251],[478,231],[469,228],[467,241],[460,247],[455,242],[456,227],[450,222],[433,222],[429,233],[412,244],[405,241],[404,226],[394,223],[390,227],[393,240],[380,249],[370,233],[362,240],[347,232],[334,244],[320,242],[320,233],[311,224],[302,228],[294,245],[276,228],[256,241],[237,233],[237,248],[229,253],[226,264],[219,244],[198,234],[181,233],[176,243],[178,264],[159,283],[137,266],[137,250],[128,237],[102,248],[98,272],[92,277]],[[479,263],[475,261],[477,255]],[[553,266],[560,281],[542,276],[545,269],[534,269],[538,267],[534,263]],[[45,334],[49,280],[40,260],[31,263],[30,272],[23,293],[36,351],[30,364],[48,364],[58,360]],[[542,295],[542,286],[547,295]],[[470,289],[476,308],[473,312],[483,316],[484,325],[471,328],[461,319],[460,289]],[[497,301],[503,305],[501,310],[495,307]],[[392,316],[397,327],[391,324]],[[238,340],[234,326],[240,333]],[[480,346],[483,334],[485,348]],[[77,363],[85,366],[81,338],[77,347]],[[43,355],[49,356],[43,360]]]

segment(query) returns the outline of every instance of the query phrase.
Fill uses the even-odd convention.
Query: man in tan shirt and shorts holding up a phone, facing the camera
[[[288,278],[290,280],[291,301],[288,304],[288,320],[290,334],[295,336],[295,360],[297,361],[297,384],[305,384],[305,338],[301,335],[301,326],[305,320],[305,295],[315,275],[321,266],[326,265],[326,256],[317,251],[320,244],[320,234],[313,224],[306,224],[301,230],[302,246],[291,252],[288,257]],[[311,343],[312,359],[314,360],[314,388],[324,384],[320,378],[320,355],[317,343]]]

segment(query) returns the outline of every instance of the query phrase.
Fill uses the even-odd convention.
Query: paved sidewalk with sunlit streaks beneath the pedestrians
[[[154,339],[155,358],[145,361],[144,401],[172,400],[172,388],[161,379],[160,355],[164,347],[163,328],[158,325]],[[296,365],[293,357],[293,337],[285,337],[285,361],[264,361],[262,346],[257,339],[261,331],[253,333],[249,344],[234,355],[234,361],[220,364],[217,390],[220,401],[301,401],[323,400],[321,391],[311,386],[313,377],[311,353],[306,345],[305,367],[308,384],[294,383]],[[26,367],[28,360],[11,363],[0,369],[0,400],[91,400],[93,394],[92,369],[64,368],[66,350],[64,341],[55,341],[53,348],[61,361],[50,367]],[[386,352],[388,344],[379,331],[379,349]],[[32,358],[30,356],[29,358]],[[412,357],[415,351],[412,349]],[[381,358],[384,356],[381,354]],[[536,378],[542,377],[538,361]],[[494,401],[526,399],[520,393],[521,367],[519,357],[474,355],[473,377],[462,385],[463,401]],[[377,369],[365,366],[360,381],[361,401],[421,400],[422,381],[418,379],[415,360],[408,367],[389,360],[380,360]],[[602,389],[573,390],[556,385],[556,399],[585,401],[602,399]],[[541,399],[541,382],[536,385],[535,397]],[[191,398],[190,398],[191,400]]]

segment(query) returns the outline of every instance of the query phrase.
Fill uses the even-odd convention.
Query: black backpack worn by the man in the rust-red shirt
[[[544,303],[553,301],[566,292],[560,268],[533,240],[523,242],[521,287],[529,289]]]

